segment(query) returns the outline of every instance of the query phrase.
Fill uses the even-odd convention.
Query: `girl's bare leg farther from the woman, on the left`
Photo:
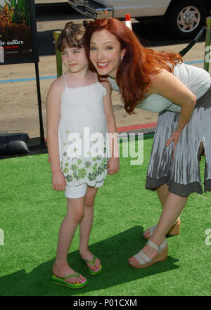
[[[74,237],[75,230],[84,217],[84,197],[67,198],[68,212],[60,225],[58,234],[58,247],[56,261],[53,264],[53,273],[58,277],[74,274],[75,271],[68,265],[68,251]],[[84,280],[83,276],[74,277],[66,281],[69,283],[79,283]]]

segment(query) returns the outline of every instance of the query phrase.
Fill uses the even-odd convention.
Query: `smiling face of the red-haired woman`
[[[115,79],[124,53],[125,49],[121,50],[120,41],[108,30],[92,34],[89,58],[99,75],[110,75]]]

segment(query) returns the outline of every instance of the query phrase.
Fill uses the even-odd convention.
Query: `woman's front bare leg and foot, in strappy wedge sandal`
[[[151,237],[153,243],[156,243],[157,245],[161,245],[163,243],[165,240],[165,235],[168,231],[170,231],[170,228],[172,228],[175,221],[177,221],[179,214],[181,214],[181,211],[186,205],[187,199],[187,197],[181,197],[169,192],[165,200],[165,205],[162,209],[160,220],[158,221],[158,226]],[[158,254],[158,252],[149,245],[143,247],[142,250],[151,259]],[[133,264],[139,264],[134,257],[130,257],[129,261],[132,261]]]

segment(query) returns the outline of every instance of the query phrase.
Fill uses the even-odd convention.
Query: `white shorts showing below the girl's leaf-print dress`
[[[67,185],[65,189],[66,198],[81,198],[84,197],[87,193],[87,186],[92,188],[98,188],[103,186],[104,179],[102,181],[96,182],[95,186],[89,186],[87,183],[82,183],[79,185]]]

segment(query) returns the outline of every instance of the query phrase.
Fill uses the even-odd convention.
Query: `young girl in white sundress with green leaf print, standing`
[[[79,225],[79,254],[89,273],[101,272],[101,261],[89,251],[88,243],[94,218],[94,199],[106,174],[119,171],[113,139],[110,147],[106,134],[115,134],[116,124],[108,82],[98,82],[88,68],[84,51],[84,31],[80,24],[68,22],[57,41],[57,48],[68,69],[51,84],[47,96],[47,140],[54,190],[65,190],[68,212],[58,235],[54,283],[82,288],[87,279],[67,261],[68,250]],[[115,142],[114,142],[115,140]]]

